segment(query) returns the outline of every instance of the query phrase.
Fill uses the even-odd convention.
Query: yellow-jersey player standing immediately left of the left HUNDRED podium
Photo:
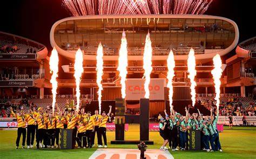
[[[64,124],[66,124],[66,119],[63,116],[63,112],[59,111],[59,113],[55,112],[56,121],[56,148],[59,147],[59,133],[60,129],[64,128]]]

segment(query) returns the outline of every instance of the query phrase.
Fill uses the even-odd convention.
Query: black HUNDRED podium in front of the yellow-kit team
[[[74,129],[60,129],[60,149],[75,148],[75,130]]]

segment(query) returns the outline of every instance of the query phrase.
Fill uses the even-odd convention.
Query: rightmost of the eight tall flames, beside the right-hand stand
[[[223,70],[221,69],[222,62],[220,59],[220,55],[217,54],[213,57],[213,65],[214,69],[212,70],[212,76],[214,79],[214,86],[215,86],[215,100],[217,101],[216,106],[217,110],[219,110],[219,104],[220,104],[220,77],[222,75]]]

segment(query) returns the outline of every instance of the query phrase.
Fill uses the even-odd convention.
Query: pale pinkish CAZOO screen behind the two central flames
[[[145,89],[144,89],[145,79],[136,78],[136,79],[127,79],[126,84],[126,100],[139,100],[144,98]],[[164,100],[164,88],[166,86],[165,78],[151,78],[150,79],[150,100]]]

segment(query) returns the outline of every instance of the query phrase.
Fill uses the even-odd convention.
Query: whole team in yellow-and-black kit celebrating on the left
[[[85,109],[81,108],[80,112],[77,111],[64,111],[57,110],[55,113],[45,113],[42,107],[30,107],[27,114],[24,111],[20,113],[14,113],[11,109],[12,115],[17,118],[18,131],[16,148],[19,147],[19,140],[21,135],[23,136],[22,148],[25,148],[26,140],[26,127],[27,127],[27,148],[33,148],[33,141],[35,140],[36,133],[36,146],[37,148],[54,148],[56,140],[56,148],[59,148],[59,133],[60,129],[74,129],[74,135],[76,137],[78,148],[92,148],[94,146],[95,134],[97,133],[98,147],[103,147],[102,137],[104,139],[105,148],[107,147],[106,141],[106,122],[109,119],[111,113],[111,107],[109,113],[103,111],[102,115],[95,111],[95,115],[91,115],[88,111],[85,113]],[[42,144],[43,143],[43,144]]]

